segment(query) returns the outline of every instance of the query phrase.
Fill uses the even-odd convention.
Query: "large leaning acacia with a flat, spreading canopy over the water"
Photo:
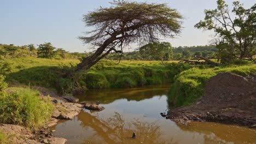
[[[86,26],[95,27],[80,37],[97,46],[93,55],[83,59],[75,71],[89,69],[110,52],[123,54],[131,43],[147,44],[160,36],[174,37],[181,31],[182,15],[166,4],[114,1],[109,8],[99,8],[83,17]]]

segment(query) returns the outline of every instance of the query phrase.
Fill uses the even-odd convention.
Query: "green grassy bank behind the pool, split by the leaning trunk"
[[[8,82],[24,83],[72,91],[72,72],[77,59],[11,58],[0,63],[2,74]],[[177,65],[176,61],[162,65],[159,61],[113,61],[103,60],[79,77],[79,85],[84,89],[131,88],[143,85],[170,83],[173,77],[190,66]]]

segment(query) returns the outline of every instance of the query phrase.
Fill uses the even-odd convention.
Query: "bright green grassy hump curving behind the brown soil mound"
[[[256,74],[256,65],[192,68],[178,74],[168,93],[171,106],[190,105],[202,97],[207,80],[218,73],[230,72],[242,76]]]

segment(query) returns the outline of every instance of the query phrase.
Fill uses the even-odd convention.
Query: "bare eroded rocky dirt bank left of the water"
[[[78,99],[72,96],[58,97],[56,93],[47,88],[36,87],[36,89],[42,93],[40,96],[42,98],[48,98],[47,95],[50,95],[50,100],[55,106],[53,116],[48,125],[39,130],[30,130],[20,125],[0,124],[0,131],[8,136],[9,143],[66,143],[66,139],[54,137],[49,127],[57,124],[60,119],[73,119],[83,109],[83,105],[78,104]]]

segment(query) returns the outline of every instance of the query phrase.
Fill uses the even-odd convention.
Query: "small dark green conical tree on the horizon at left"
[[[37,55],[40,58],[53,58],[55,47],[51,43],[38,45]]]

